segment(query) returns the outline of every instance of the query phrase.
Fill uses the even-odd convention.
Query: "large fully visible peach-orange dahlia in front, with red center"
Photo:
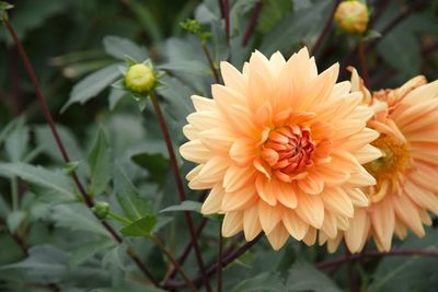
[[[307,48],[288,61],[255,51],[243,72],[222,62],[221,74],[212,100],[192,96],[180,149],[199,164],[188,186],[211,189],[201,212],[224,214],[223,236],[263,231],[274,249],[289,235],[312,244],[315,230],[346,230],[368,205],[360,187],[376,184],[361,164],[380,156],[362,94],[336,83],[337,63],[319,74]]]

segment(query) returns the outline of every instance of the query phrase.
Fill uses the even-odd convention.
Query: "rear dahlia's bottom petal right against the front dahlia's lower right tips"
[[[350,253],[358,253],[364,248],[370,229],[370,221],[365,208],[355,210],[355,217],[349,220],[349,226],[344,232],[345,243]]]

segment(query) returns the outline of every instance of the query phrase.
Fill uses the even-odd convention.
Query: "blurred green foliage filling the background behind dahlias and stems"
[[[110,87],[120,75],[117,68],[125,55],[138,61],[151,58],[168,73],[160,102],[172,139],[181,144],[185,116],[193,112],[189,96],[210,96],[214,83],[199,39],[182,30],[182,21],[194,17],[211,33],[206,45],[216,67],[229,60],[241,68],[254,49],[266,55],[280,50],[289,57],[303,45],[312,48],[335,1],[230,1],[229,43],[217,0],[11,2],[15,5],[11,23],[88,191],[119,214],[129,217],[124,197],[138,202],[145,214],[154,213],[159,222],[154,233],[180,255],[188,232],[181,212],[160,212],[178,200],[151,105],[140,113],[131,97]],[[382,34],[368,43],[371,89],[399,86],[419,73],[437,79],[438,1],[370,0],[368,5],[370,26]],[[141,237],[126,236],[116,244],[79,202],[5,30],[0,30],[0,291],[159,291],[148,284],[126,250],[134,248],[158,279],[169,273],[169,260]],[[357,42],[357,36],[333,25],[315,55],[320,70],[338,61],[341,79],[348,79],[347,65],[360,69]],[[181,164],[184,173],[192,168]],[[203,196],[187,191],[193,201]],[[194,219],[196,225],[204,222],[200,214],[194,213]],[[207,265],[217,257],[218,231],[219,219],[210,218],[200,241]],[[394,246],[437,247],[437,230],[431,227],[426,237]],[[226,248],[241,244],[227,240]],[[328,255],[325,247],[304,247],[292,240],[274,253],[262,240],[224,269],[224,291],[339,291],[350,284],[348,269],[356,272],[362,291],[436,291],[434,258],[364,259],[325,269],[326,273],[312,264],[344,253],[341,248]],[[184,269],[191,277],[197,275],[193,255]]]

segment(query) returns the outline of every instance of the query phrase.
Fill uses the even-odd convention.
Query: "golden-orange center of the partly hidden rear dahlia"
[[[381,135],[371,144],[382,151],[380,159],[364,165],[377,180],[374,191],[370,194],[371,200],[377,202],[384,197],[388,187],[396,187],[399,175],[412,167],[412,161],[408,145],[391,136]]]

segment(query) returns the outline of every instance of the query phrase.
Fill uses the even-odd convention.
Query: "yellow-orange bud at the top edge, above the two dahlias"
[[[360,1],[342,2],[335,12],[336,25],[348,34],[361,34],[367,30],[368,8]]]

